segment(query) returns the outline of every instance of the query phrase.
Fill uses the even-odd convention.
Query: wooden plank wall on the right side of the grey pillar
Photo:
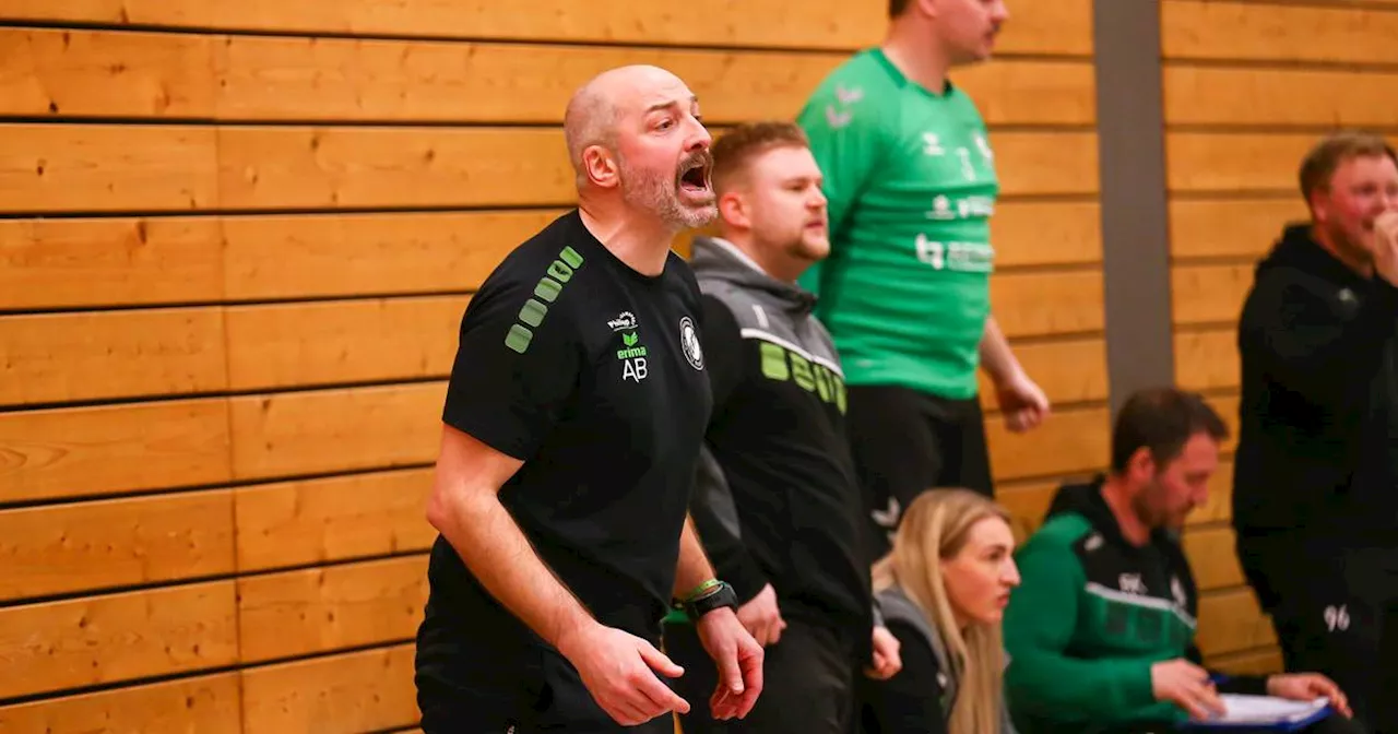
[[[1320,134],[1398,129],[1395,34],[1392,0],[1162,3],[1176,375],[1234,426],[1236,324],[1253,267],[1283,222],[1304,220],[1296,175]],[[1230,481],[1215,488],[1209,521],[1192,531],[1213,586],[1201,642],[1225,667],[1278,670],[1271,625],[1236,565]]]

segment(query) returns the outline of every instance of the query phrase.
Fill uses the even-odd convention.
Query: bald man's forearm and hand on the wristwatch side
[[[675,568],[674,596],[688,601],[703,594],[714,582],[713,566],[705,556],[693,520],[685,517],[679,535],[679,563]],[[737,612],[730,607],[709,611],[695,622],[703,649],[719,668],[719,685],[709,699],[713,717],[742,719],[762,693],[762,646],[752,639]]]

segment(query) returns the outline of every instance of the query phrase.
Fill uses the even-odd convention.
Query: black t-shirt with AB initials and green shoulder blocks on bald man
[[[442,414],[524,461],[502,505],[600,622],[646,639],[658,638],[671,598],[712,407],[700,315],[682,259],[670,253],[660,275],[643,275],[570,211],[471,299]],[[428,577],[419,675],[471,679],[502,670],[488,657],[540,643],[445,538]]]

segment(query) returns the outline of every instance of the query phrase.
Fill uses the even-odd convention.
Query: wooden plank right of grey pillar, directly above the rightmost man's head
[[[1165,67],[1167,124],[1394,127],[1395,95],[1398,74],[1383,71]]]

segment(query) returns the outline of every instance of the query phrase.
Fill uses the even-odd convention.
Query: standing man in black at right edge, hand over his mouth
[[[1398,158],[1332,134],[1311,221],[1258,264],[1239,324],[1237,552],[1286,670],[1318,670],[1398,731]]]

